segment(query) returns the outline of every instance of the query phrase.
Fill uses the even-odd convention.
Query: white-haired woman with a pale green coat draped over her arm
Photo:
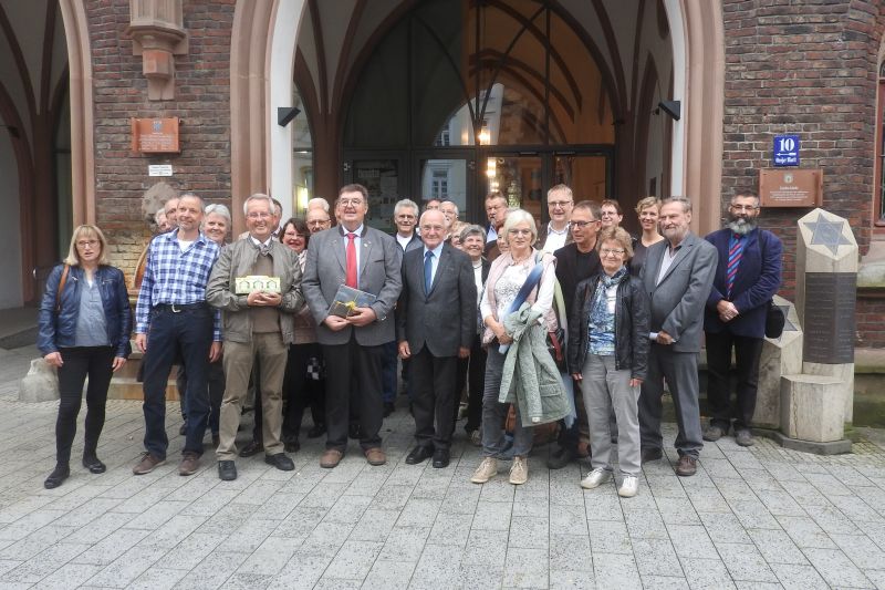
[[[545,344],[546,332],[558,328],[552,309],[555,258],[532,247],[538,228],[530,213],[517,209],[508,214],[502,231],[508,251],[492,262],[479,307],[488,356],[482,463],[470,480],[485,484],[498,473],[498,458],[504,451],[502,425],[512,402],[516,425],[510,483],[519,485],[529,478],[532,427],[565,417],[571,404]],[[531,371],[525,370],[529,365]]]

